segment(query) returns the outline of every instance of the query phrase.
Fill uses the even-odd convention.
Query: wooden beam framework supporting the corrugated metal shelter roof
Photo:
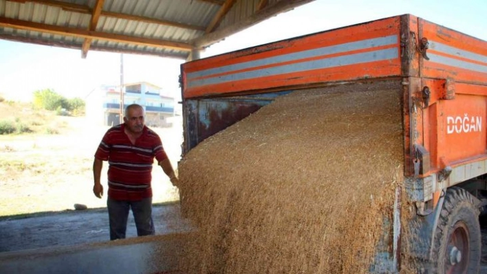
[[[82,45],[79,44],[79,41],[76,45],[74,43],[69,44],[64,43],[63,41],[54,41],[52,39],[41,39],[39,38],[40,36],[36,36],[35,34],[30,36],[9,36],[8,32],[0,32],[0,38],[28,43],[38,43],[41,45],[55,45],[68,48],[78,48],[81,49],[83,58],[86,58],[89,49],[107,50],[111,52],[155,54],[160,56],[173,56],[176,58],[181,58],[182,56],[190,56],[192,50],[195,51],[203,49],[204,47],[208,47],[209,45],[216,43],[217,41],[221,41],[226,36],[243,30],[250,25],[254,25],[255,23],[259,23],[260,21],[268,19],[270,16],[274,16],[275,14],[290,10],[313,0],[191,0],[191,3],[193,3],[193,1],[199,2],[200,4],[197,5],[198,7],[206,8],[206,10],[201,11],[193,10],[193,12],[198,12],[196,14],[197,16],[199,16],[201,12],[206,12],[203,14],[211,14],[211,16],[207,19],[208,23],[204,25],[198,25],[198,23],[195,23],[196,21],[194,20],[184,20],[184,17],[182,18],[182,20],[171,21],[164,18],[154,18],[151,16],[110,12],[108,10],[103,10],[105,0],[96,0],[93,7],[90,7],[89,5],[80,5],[78,4],[80,3],[79,1],[78,3],[70,3],[67,0],[0,0],[0,5],[2,1],[21,3],[21,5],[25,3],[36,3],[40,5],[57,7],[67,12],[89,14],[90,20],[89,25],[87,25],[86,28],[83,30],[79,27],[66,27],[62,25],[63,22],[58,22],[58,25],[50,25],[46,23],[38,23],[39,21],[34,20],[28,21],[17,19],[26,18],[26,16],[0,16],[0,28],[8,27],[17,30],[27,30],[47,34],[56,34],[61,36],[74,36],[77,38],[83,38]],[[203,3],[207,4],[203,5]],[[239,3],[239,5],[235,5],[236,3]],[[235,7],[247,10],[251,9],[253,10],[253,13],[243,20],[237,21],[236,23],[231,24],[228,23],[228,20],[226,20],[226,25],[222,25],[222,22],[224,22],[224,19],[226,18],[226,16],[228,16],[230,10],[235,10]],[[184,12],[184,7],[182,7],[181,9],[182,11],[180,12]],[[238,12],[238,10],[232,12],[232,16],[236,12]],[[97,28],[97,26],[98,21],[100,21],[102,17],[144,22],[155,25],[164,25],[167,27],[175,28],[171,29],[171,32],[175,32],[175,30],[177,30],[177,32],[183,34],[180,35],[178,39],[172,37],[164,37],[162,35],[157,36],[147,32],[142,32],[142,34],[139,33],[137,35],[133,35],[130,32],[120,34],[109,32],[105,28],[105,32],[100,32],[100,29]],[[184,21],[193,23],[184,23]],[[169,29],[166,28],[164,30]],[[188,34],[186,35],[184,34],[184,32],[188,32]],[[98,42],[94,44],[94,41]],[[115,47],[107,43],[99,43],[99,41],[110,41],[120,43],[126,46]],[[129,45],[142,45],[147,47],[131,49],[133,47],[130,47]]]

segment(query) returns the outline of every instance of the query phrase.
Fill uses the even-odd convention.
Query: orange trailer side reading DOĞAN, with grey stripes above
[[[417,20],[417,37],[429,40],[429,60],[419,59],[420,89],[429,87],[431,95],[411,130],[430,152],[426,176],[487,159],[487,42]]]

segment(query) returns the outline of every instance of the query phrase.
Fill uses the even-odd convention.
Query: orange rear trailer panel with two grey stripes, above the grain
[[[392,17],[188,62],[183,97],[400,76],[399,22]]]

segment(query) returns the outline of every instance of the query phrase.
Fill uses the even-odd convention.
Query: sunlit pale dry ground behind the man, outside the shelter
[[[107,166],[102,170],[105,196],[92,192],[94,153],[107,126],[85,117],[60,117],[58,134],[0,135],[0,216],[60,212],[74,204],[105,207]],[[161,137],[173,167],[181,155],[182,128],[153,128]],[[173,187],[158,165],[153,166],[153,203],[177,201]]]

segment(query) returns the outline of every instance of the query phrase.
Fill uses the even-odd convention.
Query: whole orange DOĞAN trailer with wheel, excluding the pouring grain
[[[296,89],[380,80],[402,87],[404,185],[429,273],[476,273],[487,197],[487,42],[410,14],[182,65],[183,155]],[[325,106],[324,106],[325,107]],[[399,190],[398,190],[399,191]],[[401,203],[396,193],[396,205]],[[400,271],[400,207],[374,273]],[[378,259],[379,260],[379,259]],[[376,260],[377,261],[377,260]]]

